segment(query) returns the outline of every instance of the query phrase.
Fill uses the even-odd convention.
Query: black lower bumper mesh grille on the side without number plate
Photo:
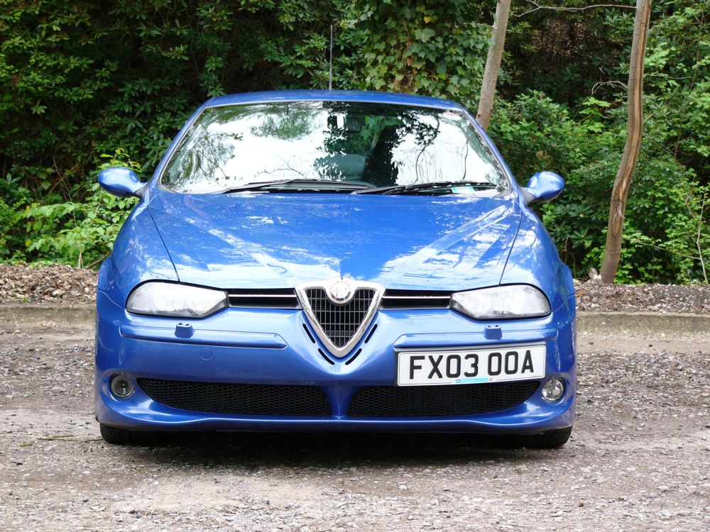
[[[138,379],[153,401],[176,409],[245,416],[330,416],[330,403],[313,386],[222,384]]]

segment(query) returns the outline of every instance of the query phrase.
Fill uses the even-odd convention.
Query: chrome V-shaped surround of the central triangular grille
[[[363,320],[360,322],[360,325],[356,329],[354,335],[348,343],[343,345],[342,348],[337,347],[328,335],[325,333],[323,328],[320,325],[320,322],[318,321],[318,318],[315,316],[315,312],[311,308],[310,301],[308,300],[306,291],[308,289],[322,289],[326,294],[330,294],[329,288],[333,285],[336,284],[337,282],[341,281],[346,281],[349,284],[351,284],[351,287],[353,289],[353,293],[356,292],[359,289],[366,289],[366,290],[372,290],[374,292],[372,301],[370,301],[370,306],[365,314],[365,317]],[[360,339],[363,337],[365,334],[365,331],[367,331],[368,326],[372,322],[373,318],[375,317],[375,314],[377,312],[377,309],[380,306],[380,301],[382,300],[382,295],[385,292],[385,287],[383,287],[381,284],[377,284],[374,282],[365,282],[365,281],[358,281],[356,279],[345,279],[344,277],[334,277],[332,279],[324,279],[323,281],[312,281],[312,282],[304,282],[299,284],[296,288],[296,295],[298,297],[298,301],[300,301],[301,308],[303,311],[305,311],[306,317],[308,318],[308,323],[312,326],[313,330],[315,331],[316,335],[318,338],[320,338],[320,341],[323,343],[323,345],[327,348],[327,350],[337,358],[343,358],[345,355],[350,353],[350,351],[355,347],[355,345],[360,341]],[[343,304],[342,302],[339,301],[333,301],[333,304]]]

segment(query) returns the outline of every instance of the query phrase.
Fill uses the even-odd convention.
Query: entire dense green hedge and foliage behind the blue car
[[[99,167],[118,160],[149,177],[209,96],[327,87],[331,24],[335,87],[475,109],[492,9],[462,0],[0,0],[0,260],[100,260],[131,202],[99,191]],[[586,275],[601,264],[626,134],[633,10],[525,9],[516,4],[510,18],[490,133],[523,184],[542,169],[567,179],[540,214]],[[707,280],[709,17],[710,0],[655,2],[618,280]]]

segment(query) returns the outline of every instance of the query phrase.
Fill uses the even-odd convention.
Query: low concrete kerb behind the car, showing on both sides
[[[708,314],[660,314],[650,312],[579,312],[580,333],[606,336],[704,336],[710,334]],[[93,304],[0,304],[0,330],[54,322],[67,326],[94,323]]]

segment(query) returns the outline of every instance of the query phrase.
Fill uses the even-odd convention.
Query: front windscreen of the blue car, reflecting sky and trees
[[[464,113],[342,101],[207,108],[160,182],[192,194],[368,187],[440,194],[442,187],[418,186],[439,182],[449,194],[490,195],[509,188]],[[264,186],[248,186],[254,183]]]

